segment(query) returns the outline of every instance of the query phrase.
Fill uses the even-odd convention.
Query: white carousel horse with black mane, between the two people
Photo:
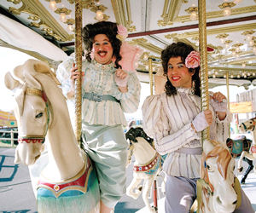
[[[125,133],[125,137],[130,141],[128,164],[131,164],[131,156],[135,157],[133,179],[127,187],[126,194],[137,199],[143,193],[143,201],[148,211],[156,212],[154,207],[151,207],[148,197],[153,182],[161,170],[160,154],[152,147],[153,139],[148,137],[141,127],[131,127]],[[141,181],[143,181],[143,187]]]

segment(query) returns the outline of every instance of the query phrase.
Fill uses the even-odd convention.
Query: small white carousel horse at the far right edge
[[[239,128],[239,130],[241,130],[241,132],[250,131],[253,136],[253,142],[250,147],[250,151],[249,152],[243,151],[238,160],[237,170],[239,170],[239,171],[243,170],[242,165],[241,165],[242,158],[248,158],[249,160],[253,160],[256,158],[256,130],[255,130],[256,128],[255,128],[255,126],[256,126],[256,117],[248,119],[247,121],[241,123],[238,126],[238,128]]]

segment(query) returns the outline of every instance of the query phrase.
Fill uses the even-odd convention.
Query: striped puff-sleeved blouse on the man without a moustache
[[[225,142],[228,137],[230,112],[223,121],[212,106],[210,138]],[[178,152],[180,148],[201,147],[201,132],[195,133],[191,122],[201,112],[201,98],[189,95],[189,89],[177,89],[177,95],[151,95],[143,103],[143,130],[154,138],[158,153],[167,154],[163,170],[169,176],[200,177],[201,154]],[[177,151],[177,152],[176,152]]]

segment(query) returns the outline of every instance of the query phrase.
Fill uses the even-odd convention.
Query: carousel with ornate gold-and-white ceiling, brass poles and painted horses
[[[136,60],[127,60],[126,65],[142,85],[149,85],[147,95],[164,92],[166,76],[160,55],[167,45],[177,42],[200,52],[201,110],[209,109],[209,89],[226,85],[232,112],[239,103],[230,103],[230,85],[256,86],[255,0],[3,0],[0,11],[0,47],[35,58],[6,72],[4,83],[15,94],[19,130],[15,164],[29,167],[38,212],[100,212],[96,168],[81,147],[83,78],[79,75],[75,81],[71,112],[55,73],[70,56],[82,72],[83,26],[103,20],[125,26],[128,36],[123,43],[136,49],[136,54],[128,55]],[[255,96],[241,101],[244,104],[250,107],[246,112],[255,114]],[[204,164],[191,212],[233,212],[241,204],[234,168],[236,158],[240,172],[242,160],[249,164],[241,180],[245,183],[256,158],[255,124],[255,118],[238,124],[241,132],[252,134],[252,140],[231,139],[229,133],[227,141],[212,141],[209,128],[202,131]],[[133,163],[126,194],[134,203],[142,195],[145,212],[162,213],[158,193],[165,188],[162,164],[166,156],[156,152],[143,126],[126,130],[127,166]]]

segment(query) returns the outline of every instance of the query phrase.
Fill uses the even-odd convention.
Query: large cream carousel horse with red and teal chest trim
[[[26,60],[13,74],[6,74],[5,84],[15,92],[15,164],[40,162],[48,136],[49,160],[37,185],[38,212],[99,212],[96,170],[76,141],[55,73],[43,61]]]

